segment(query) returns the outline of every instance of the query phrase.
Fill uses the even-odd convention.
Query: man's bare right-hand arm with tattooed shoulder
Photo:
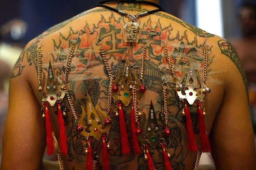
[[[228,46],[227,43],[222,45]],[[210,134],[212,156],[217,170],[256,170],[255,142],[241,63],[236,51],[231,50],[231,43],[229,48],[221,45],[220,48],[219,57],[229,71],[225,73],[225,94]]]

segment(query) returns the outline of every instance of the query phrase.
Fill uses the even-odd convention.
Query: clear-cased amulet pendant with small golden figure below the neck
[[[140,25],[135,20],[131,20],[124,25],[123,38],[125,42],[138,42],[140,34]]]

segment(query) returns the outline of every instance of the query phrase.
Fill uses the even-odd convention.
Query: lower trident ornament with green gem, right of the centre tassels
[[[138,135],[141,144],[149,144],[151,148],[156,148],[161,139],[161,128],[158,125],[155,109],[151,100],[150,109],[148,113],[148,120],[146,122],[146,115],[140,118],[140,125],[142,126],[142,134]]]

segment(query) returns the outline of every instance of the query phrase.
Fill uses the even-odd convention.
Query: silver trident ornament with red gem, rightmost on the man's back
[[[177,81],[176,86],[182,84],[182,81],[184,80],[184,78],[185,78],[185,69],[183,68],[183,74],[181,78]],[[199,80],[200,86],[197,85],[197,80]],[[199,74],[199,70],[193,69],[193,62],[190,62],[190,68],[188,71],[184,89],[180,91],[176,90],[176,92],[181,100],[187,99],[188,103],[192,105],[195,102],[195,100],[202,100],[204,98],[205,94],[202,92],[204,86],[205,85],[202,80],[202,77]],[[197,92],[199,92],[200,94],[198,94]]]

